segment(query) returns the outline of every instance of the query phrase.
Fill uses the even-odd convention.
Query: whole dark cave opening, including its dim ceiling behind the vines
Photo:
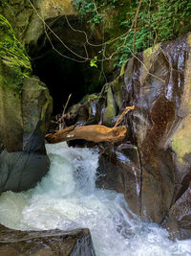
[[[78,32],[85,30],[93,43],[100,44],[102,41],[98,31],[86,28],[76,16],[68,16],[68,20],[70,26],[65,16],[46,20],[54,35],[49,30],[46,33],[43,31],[37,43],[29,45],[33,75],[39,77],[49,88],[53,97],[53,115],[62,112],[70,94],[72,97],[68,107],[78,103],[87,94],[100,92],[103,84],[113,78],[113,71],[108,63],[100,61],[96,63],[98,68],[91,67],[90,59],[98,56],[102,48],[87,45],[84,33]],[[84,62],[72,60],[71,58],[80,61],[84,59],[77,58],[64,45],[77,55],[88,56],[89,59]]]

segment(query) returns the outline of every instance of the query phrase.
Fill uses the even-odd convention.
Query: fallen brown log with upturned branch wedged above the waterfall
[[[135,106],[128,106],[120,115],[114,128],[107,128],[102,125],[91,125],[84,127],[71,126],[45,136],[48,143],[57,143],[75,139],[84,139],[94,142],[118,142],[125,138],[127,128],[125,126],[117,127],[122,121],[124,115]]]

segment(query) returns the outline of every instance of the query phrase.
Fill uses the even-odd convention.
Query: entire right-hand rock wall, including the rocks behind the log
[[[123,122],[125,141],[99,145],[97,186],[123,193],[143,221],[163,223],[181,238],[190,234],[191,218],[190,38],[131,58],[97,98],[75,105],[66,116],[70,125],[91,120],[113,126],[125,106],[136,105]]]

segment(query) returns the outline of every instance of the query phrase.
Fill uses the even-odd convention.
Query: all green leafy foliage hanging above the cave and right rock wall
[[[115,29],[107,40],[108,49],[116,52],[115,63],[121,66],[132,57],[134,48],[134,20],[139,1],[130,0],[73,0],[75,9],[87,22],[102,24],[105,13],[117,10],[111,16]],[[142,0],[136,26],[135,54],[154,46],[156,43],[174,39],[191,30],[190,0]],[[133,26],[132,26],[133,25]],[[130,32],[124,35],[125,32]],[[119,39],[113,39],[121,33]],[[101,54],[101,51],[100,51]],[[98,57],[99,58],[99,57]]]

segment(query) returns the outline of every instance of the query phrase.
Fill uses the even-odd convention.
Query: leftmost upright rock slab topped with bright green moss
[[[32,67],[11,24],[0,15],[0,141],[8,151],[23,147],[22,84]]]

